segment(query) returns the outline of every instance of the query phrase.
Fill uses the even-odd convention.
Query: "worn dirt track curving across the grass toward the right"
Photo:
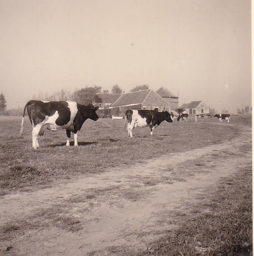
[[[251,150],[243,150],[251,139],[251,130],[245,128],[230,142],[82,176],[49,189],[3,196],[1,226],[10,220],[37,226],[2,244],[0,253],[83,256],[112,255],[122,247],[146,249],[149,241],[174,227],[169,212],[188,212],[191,202],[200,193],[209,193],[220,177],[252,162]],[[56,215],[77,220],[78,231],[52,224]],[[4,251],[7,247],[12,248]]]

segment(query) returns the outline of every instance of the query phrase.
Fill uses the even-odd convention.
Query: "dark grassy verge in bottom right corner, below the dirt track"
[[[223,178],[191,212],[175,212],[181,226],[138,255],[252,255],[252,167]]]

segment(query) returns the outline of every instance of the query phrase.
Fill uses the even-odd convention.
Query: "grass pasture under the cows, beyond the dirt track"
[[[66,133],[46,131],[39,137],[40,148],[32,148],[32,126],[25,118],[20,135],[21,117],[0,117],[0,180],[2,194],[34,185],[50,186],[55,179],[68,179],[77,173],[102,172],[107,167],[130,165],[164,154],[183,152],[235,138],[245,119],[232,118],[219,125],[217,119],[189,118],[188,122],[163,122],[149,134],[149,128],[134,129],[128,138],[124,120],[86,121],[78,134],[78,148],[65,147]],[[234,120],[235,119],[235,120]],[[229,125],[230,124],[230,125]],[[73,143],[71,143],[73,145]]]

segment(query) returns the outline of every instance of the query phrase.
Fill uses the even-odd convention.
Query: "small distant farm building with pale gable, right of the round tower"
[[[183,104],[178,108],[179,113],[187,113],[188,115],[197,115],[209,113],[209,106],[206,106],[203,101],[191,101]]]

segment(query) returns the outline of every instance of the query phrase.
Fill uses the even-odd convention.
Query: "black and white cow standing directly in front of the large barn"
[[[126,127],[126,118],[128,121],[127,130],[128,135],[132,137],[132,130],[135,127],[150,127],[151,135],[153,135],[153,130],[155,126],[159,126],[162,121],[167,121],[172,123],[171,114],[168,111],[154,111],[154,110],[127,110],[125,112],[125,127]]]

